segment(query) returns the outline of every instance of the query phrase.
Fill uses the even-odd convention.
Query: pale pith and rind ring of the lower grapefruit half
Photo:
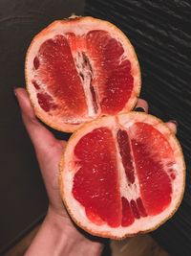
[[[116,123],[117,122],[117,123]],[[173,165],[173,169],[176,173],[176,178],[172,180],[172,200],[169,206],[156,216],[147,216],[145,218],[136,219],[134,223],[127,227],[118,226],[117,228],[112,228],[108,224],[96,225],[92,221],[90,221],[85,214],[84,207],[74,199],[72,194],[73,189],[73,180],[74,174],[77,172],[77,167],[75,166],[74,170],[74,145],[79,141],[81,137],[85,134],[91,132],[95,128],[99,127],[107,127],[115,129],[117,128],[117,124],[119,124],[123,128],[129,128],[132,124],[137,122],[143,122],[146,124],[150,124],[157,128],[159,132],[161,132],[166,138],[168,138],[168,142],[170,143],[175,157],[175,164]],[[83,129],[83,130],[82,130]],[[118,154],[119,152],[117,152]],[[117,155],[118,159],[120,159],[120,155]],[[90,233],[99,234],[105,237],[116,237],[122,238],[125,235],[136,234],[138,232],[143,232],[145,230],[153,229],[158,226],[159,223],[168,219],[177,207],[180,204],[180,199],[182,198],[183,187],[184,187],[184,161],[182,157],[182,153],[180,151],[180,145],[176,138],[172,135],[169,128],[167,128],[164,124],[162,124],[159,119],[153,118],[152,116],[148,116],[145,114],[138,113],[129,113],[129,114],[121,114],[117,117],[105,117],[102,120],[98,120],[92,123],[91,126],[85,125],[80,130],[76,131],[74,136],[71,138],[70,143],[67,146],[67,149],[64,154],[63,166],[61,172],[61,184],[62,184],[62,198],[74,218],[74,220],[80,223],[80,226],[84,229],[88,230]],[[128,194],[129,189],[127,185],[126,175],[124,174],[124,169],[121,163],[118,165],[118,172],[120,178],[120,193],[121,196],[125,198],[137,198],[139,195],[138,190],[135,188],[135,195]],[[138,180],[136,181],[136,183]],[[128,196],[128,197],[127,197]]]

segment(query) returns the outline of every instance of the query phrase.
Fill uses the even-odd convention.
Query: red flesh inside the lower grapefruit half
[[[127,198],[120,196],[115,140],[128,189],[139,186],[136,197],[131,193]],[[174,153],[151,125],[136,123],[127,130],[120,128],[116,138],[109,128],[96,128],[78,141],[74,155],[79,167],[74,175],[74,198],[97,225],[130,226],[140,218],[158,215],[171,202],[171,183],[176,178]]]

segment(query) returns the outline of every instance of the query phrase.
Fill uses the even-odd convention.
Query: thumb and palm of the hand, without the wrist
[[[56,215],[70,220],[60,198],[58,187],[58,164],[66,142],[55,139],[51,131],[38,122],[25,89],[18,88],[15,94],[21,107],[24,125],[32,139],[50,206]],[[72,221],[71,224],[74,226]]]

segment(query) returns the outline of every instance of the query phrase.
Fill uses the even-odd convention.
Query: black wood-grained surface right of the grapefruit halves
[[[176,119],[186,166],[186,191],[175,217],[153,236],[175,256],[191,255],[191,2],[87,0],[86,15],[115,23],[133,43],[150,113]]]

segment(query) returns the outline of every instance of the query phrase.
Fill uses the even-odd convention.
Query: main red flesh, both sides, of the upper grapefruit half
[[[86,115],[86,97],[91,97],[95,112],[100,108],[103,114],[117,114],[127,104],[134,86],[131,63],[123,54],[120,42],[105,31],[55,35],[33,58],[34,78],[47,86],[63,116]],[[91,78],[87,80],[87,76]],[[84,86],[92,96],[85,96]]]

